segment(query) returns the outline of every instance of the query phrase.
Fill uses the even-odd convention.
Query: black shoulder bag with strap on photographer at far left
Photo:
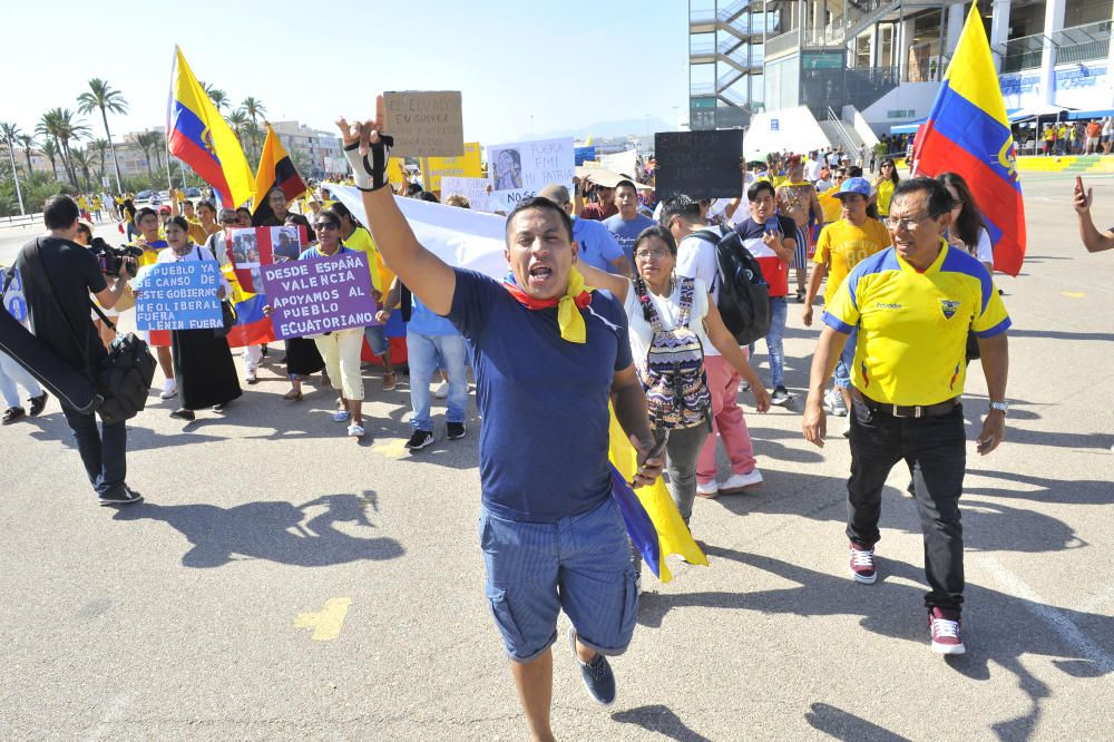
[[[42,260],[39,256],[38,241],[35,242],[35,250],[28,252],[28,257],[33,257],[33,262],[29,261],[33,267],[31,277],[39,282],[40,289],[46,289],[45,293],[53,300],[58,313],[66,318],[66,313],[55,294],[50,275],[43,269]],[[150,354],[150,350],[143,339],[134,332],[126,335],[119,334],[111,320],[105,316],[105,313],[91,300],[89,306],[116,333],[116,339],[108,346],[108,354],[101,359],[98,369],[94,370],[89,363],[89,333],[85,333],[85,342],[82,343],[79,333],[68,318],[66,326],[74,335],[74,341],[81,345],[86,373],[92,379],[97,392],[104,398],[97,408],[97,414],[105,422],[130,420],[147,406],[147,392],[155,378],[155,358]]]

